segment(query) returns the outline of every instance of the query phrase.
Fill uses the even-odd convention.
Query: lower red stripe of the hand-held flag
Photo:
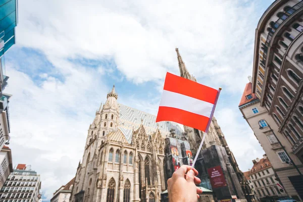
[[[159,107],[156,122],[173,121],[188,127],[205,131],[209,120],[210,119],[208,117],[184,110],[170,107]]]

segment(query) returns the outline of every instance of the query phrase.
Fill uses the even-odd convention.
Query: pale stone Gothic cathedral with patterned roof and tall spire
[[[176,51],[181,76],[196,81]],[[118,104],[117,99],[113,86],[89,126],[72,202],[160,201],[169,177],[165,138],[172,130],[174,138],[188,141],[196,155],[203,132],[172,122],[156,124],[156,116]],[[215,118],[203,147],[211,145],[228,149]],[[229,150],[227,153],[232,156]]]

